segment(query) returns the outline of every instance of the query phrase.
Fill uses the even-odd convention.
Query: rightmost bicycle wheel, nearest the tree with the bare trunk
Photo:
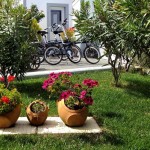
[[[95,47],[86,47],[83,55],[86,61],[91,64],[97,64],[100,61],[100,51]]]

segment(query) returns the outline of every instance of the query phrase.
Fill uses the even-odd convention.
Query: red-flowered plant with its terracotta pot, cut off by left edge
[[[0,128],[14,125],[21,112],[21,94],[0,84]]]

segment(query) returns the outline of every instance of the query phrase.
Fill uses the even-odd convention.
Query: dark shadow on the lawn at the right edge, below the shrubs
[[[129,84],[125,88],[129,94],[132,94],[137,97],[150,98],[150,81],[146,82],[134,79],[128,79],[126,81]]]

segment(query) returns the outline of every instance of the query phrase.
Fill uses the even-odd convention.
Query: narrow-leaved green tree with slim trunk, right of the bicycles
[[[94,14],[91,15],[89,2],[82,1],[81,11],[74,11],[73,14],[76,17],[76,28],[81,36],[86,36],[91,41],[98,40],[105,48],[115,85],[118,86],[121,71],[120,59],[126,51],[124,48],[126,41],[121,37],[122,16],[113,9],[112,5],[113,3],[108,0],[95,0]]]

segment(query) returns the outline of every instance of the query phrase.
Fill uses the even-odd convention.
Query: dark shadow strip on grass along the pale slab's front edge
[[[43,145],[47,144],[47,142],[52,145],[53,143],[55,143],[55,146],[60,144],[62,145],[64,144],[64,142],[68,143],[69,145],[69,144],[73,144],[74,143],[73,141],[75,139],[77,142],[82,141],[82,143],[88,145],[90,144],[95,148],[102,144],[109,144],[109,145],[111,144],[115,146],[124,145],[124,142],[121,137],[105,131],[101,134],[70,134],[70,135],[59,134],[59,135],[44,135],[44,136],[43,135],[36,135],[36,136],[35,135],[33,136],[32,135],[17,135],[17,136],[5,135],[1,137],[1,141],[3,141],[3,143],[1,142],[2,144],[1,146],[4,147],[5,144],[7,143],[8,144],[7,147],[9,147],[13,143],[16,144],[17,142],[17,147],[20,145],[22,146],[26,145],[27,147],[31,147],[31,146],[38,145],[41,142],[41,140],[44,141],[46,140],[45,142],[43,142]]]

